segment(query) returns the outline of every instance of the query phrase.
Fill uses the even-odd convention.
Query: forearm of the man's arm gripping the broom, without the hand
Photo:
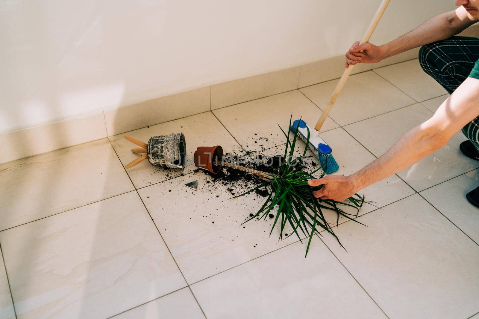
[[[460,33],[474,22],[464,14],[464,9],[437,15],[422,23],[414,30],[401,35],[399,38],[380,46],[382,59],[417,48],[424,44],[450,38]]]

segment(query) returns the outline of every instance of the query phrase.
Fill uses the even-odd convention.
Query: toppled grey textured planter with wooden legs
[[[125,139],[142,147],[134,148],[132,152],[144,154],[125,165],[125,168],[133,167],[146,159],[151,165],[160,167],[186,166],[186,141],[183,133],[153,136],[148,140],[148,144],[128,135],[125,135]]]

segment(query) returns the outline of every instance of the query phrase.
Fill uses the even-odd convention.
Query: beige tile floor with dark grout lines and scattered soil
[[[321,133],[338,174],[447,98],[420,71],[412,60],[351,77]],[[208,144],[280,154],[277,123],[293,113],[314,124],[335,81],[127,134],[184,132],[189,157]],[[322,232],[307,258],[304,242],[268,236],[271,220],[241,225],[264,200],[256,194],[228,199],[193,167],[125,171],[137,155],[123,135],[0,165],[1,319],[479,318],[479,209],[464,198],[479,163],[458,150],[461,133],[360,192],[374,206],[359,212],[367,227],[340,219],[347,252]],[[183,186],[193,180],[196,192]]]

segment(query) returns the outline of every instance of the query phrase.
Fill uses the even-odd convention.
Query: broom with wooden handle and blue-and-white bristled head
[[[379,5],[379,8],[376,11],[376,14],[374,15],[373,20],[369,24],[369,27],[367,28],[366,33],[363,36],[363,39],[361,39],[360,44],[363,44],[369,41],[369,38],[371,37],[371,35],[374,32],[374,29],[377,26],[377,23],[379,23],[379,20],[381,19],[384,11],[386,11],[389,1],[390,0],[383,0],[381,2],[381,4]],[[332,106],[334,105],[334,102],[336,102],[336,99],[338,98],[339,93],[344,87],[346,80],[348,79],[351,72],[353,71],[353,68],[354,68],[354,65],[352,64],[352,65],[349,65],[349,67],[347,67],[344,70],[344,73],[342,74],[342,77],[339,80],[338,85],[334,89],[331,99],[328,105],[326,106],[326,109],[323,111],[323,113],[321,114],[321,117],[316,123],[316,126],[314,127],[314,129],[318,133],[313,133],[313,130],[311,130],[311,127],[305,121],[302,121],[302,120],[294,121],[293,125],[291,125],[289,128],[289,130],[292,132],[296,132],[296,128],[298,128],[298,133],[299,133],[298,136],[305,143],[307,141],[308,132],[310,132],[308,147],[316,156],[318,156],[319,163],[321,163],[321,166],[323,167],[326,174],[331,174],[336,172],[339,169],[339,165],[332,155],[331,147],[321,137],[319,137],[319,130],[323,126],[324,121],[326,121],[326,118],[328,117],[329,112],[331,111]]]

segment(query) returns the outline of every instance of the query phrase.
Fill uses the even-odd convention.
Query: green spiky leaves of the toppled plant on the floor
[[[289,120],[288,127],[290,126],[291,118]],[[332,227],[324,218],[323,209],[331,209],[336,212],[336,223],[339,222],[340,215],[347,219],[354,220],[355,222],[360,223],[359,221],[351,218],[350,216],[357,217],[357,214],[359,213],[359,208],[361,208],[363,206],[363,203],[365,203],[364,197],[355,194],[354,197],[349,198],[351,204],[346,202],[338,202],[332,199],[321,200],[319,198],[315,198],[312,194],[312,191],[320,189],[321,187],[323,187],[323,185],[311,187],[308,185],[308,180],[316,179],[313,174],[318,172],[321,167],[311,173],[306,173],[301,170],[303,158],[308,150],[309,130],[306,146],[303,150],[303,156],[295,158],[294,151],[298,137],[297,130],[296,133],[294,133],[294,136],[292,137],[293,141],[291,142],[290,131],[288,130],[288,133],[286,134],[285,131],[283,131],[283,129],[281,128],[281,126],[280,129],[286,137],[285,158],[286,156],[288,156],[288,158],[292,159],[292,161],[290,161],[289,163],[288,161],[282,163],[282,165],[279,167],[279,172],[274,176],[271,181],[262,183],[261,185],[254,187],[249,191],[244,192],[243,194],[235,196],[236,198],[246,195],[261,187],[265,187],[265,189],[267,189],[269,192],[269,195],[264,201],[262,207],[253,217],[246,220],[245,222],[256,218],[266,219],[268,214],[270,212],[274,212],[273,209],[277,207],[277,212],[276,216],[274,216],[274,222],[271,228],[270,235],[272,234],[274,227],[279,220],[281,220],[281,231],[278,240],[282,240],[283,238],[283,230],[286,223],[291,225],[291,227],[293,228],[293,232],[297,235],[300,241],[301,237],[298,233],[298,229],[306,237],[309,235],[305,257],[308,255],[309,245],[311,244],[311,239],[313,238],[314,233],[317,233],[321,236],[319,229],[329,232],[342,246],[341,242],[339,241],[339,238],[334,234]],[[296,161],[299,161],[299,163],[297,163],[298,165],[295,166],[294,164],[296,164]],[[319,178],[322,178],[324,174],[325,173],[323,171]],[[340,207],[338,207],[341,205],[354,207],[356,209],[356,214],[350,214],[345,212]],[[293,232],[289,236],[291,236]],[[342,247],[344,248],[344,246]]]

